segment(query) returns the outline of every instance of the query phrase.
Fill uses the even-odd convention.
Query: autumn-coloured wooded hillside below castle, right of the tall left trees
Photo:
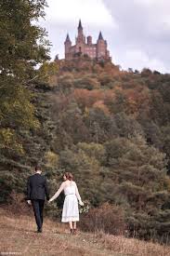
[[[120,206],[129,234],[166,239],[170,74],[123,72],[85,59],[57,65],[49,85],[54,129],[47,164],[72,171],[92,206]]]

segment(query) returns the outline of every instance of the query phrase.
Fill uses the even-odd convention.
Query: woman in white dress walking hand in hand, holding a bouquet
[[[78,201],[81,206],[84,206],[84,203],[79,195],[76,183],[72,181],[72,173],[66,172],[63,175],[63,180],[64,182],[61,183],[59,190],[48,202],[52,202],[64,191],[65,200],[61,222],[69,222],[71,234],[76,234],[76,222],[79,222]]]

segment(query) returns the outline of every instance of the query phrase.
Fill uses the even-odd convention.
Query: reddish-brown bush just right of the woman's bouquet
[[[124,211],[120,207],[104,203],[99,208],[90,209],[82,217],[80,227],[85,232],[98,232],[123,235],[125,231]]]

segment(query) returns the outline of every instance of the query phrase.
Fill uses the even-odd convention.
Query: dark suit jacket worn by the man
[[[27,200],[32,199],[49,200],[49,191],[46,183],[46,177],[39,173],[35,173],[28,178]]]

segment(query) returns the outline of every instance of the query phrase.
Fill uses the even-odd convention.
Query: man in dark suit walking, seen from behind
[[[33,212],[37,224],[37,233],[42,232],[43,209],[45,197],[49,200],[49,192],[46,183],[46,177],[42,175],[39,167],[35,168],[35,173],[28,178],[27,182],[27,202],[33,205]]]

